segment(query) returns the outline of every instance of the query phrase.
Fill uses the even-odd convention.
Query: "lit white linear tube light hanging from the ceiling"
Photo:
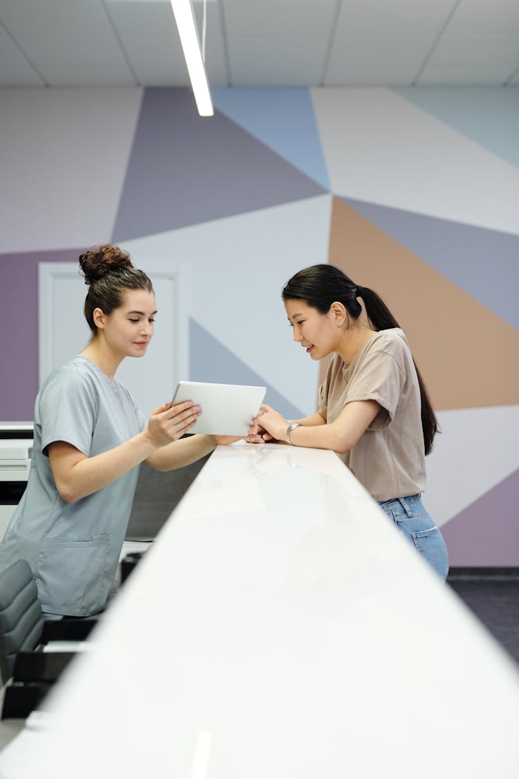
[[[178,34],[181,37],[182,50],[186,65],[188,65],[191,87],[195,95],[196,107],[200,116],[213,116],[211,93],[207,73],[205,72],[204,59],[198,41],[195,14],[191,0],[171,0]]]

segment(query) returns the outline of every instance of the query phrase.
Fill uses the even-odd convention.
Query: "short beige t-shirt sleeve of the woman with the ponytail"
[[[385,351],[366,355],[348,386],[347,402],[376,400],[381,408],[368,430],[384,430],[395,418],[405,375],[395,358]]]

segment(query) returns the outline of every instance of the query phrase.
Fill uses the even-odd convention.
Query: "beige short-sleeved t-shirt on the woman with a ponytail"
[[[328,422],[352,400],[381,408],[349,452],[339,455],[376,500],[405,498],[426,487],[421,401],[411,349],[399,327],[380,330],[349,365],[335,354],[319,390]]]

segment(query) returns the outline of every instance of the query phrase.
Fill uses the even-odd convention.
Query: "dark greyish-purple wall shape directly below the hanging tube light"
[[[146,89],[114,241],[326,192],[225,115],[198,116],[188,89]]]

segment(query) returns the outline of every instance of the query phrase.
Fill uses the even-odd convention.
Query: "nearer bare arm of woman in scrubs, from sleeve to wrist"
[[[145,431],[120,446],[93,457],[86,457],[77,449],[72,449],[70,456],[75,461],[70,460],[68,467],[58,467],[54,452],[58,452],[63,446],[72,449],[63,442],[55,442],[51,444],[49,456],[58,492],[68,503],[86,498],[86,495],[92,495],[93,492],[110,485],[157,450],[156,444],[149,439]]]

